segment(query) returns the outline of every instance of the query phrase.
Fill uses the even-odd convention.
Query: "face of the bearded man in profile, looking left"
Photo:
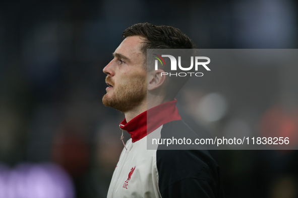
[[[113,53],[114,58],[103,72],[109,85],[102,103],[106,107],[128,112],[146,101],[146,70],[140,51],[141,38],[131,36],[123,40]]]

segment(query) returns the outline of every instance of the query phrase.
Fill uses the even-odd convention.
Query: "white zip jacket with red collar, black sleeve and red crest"
[[[158,145],[147,138],[197,138],[178,114],[176,100],[161,104],[120,124],[131,135],[114,170],[107,197],[223,197],[219,168],[207,150]],[[149,134],[147,136],[147,133]],[[195,149],[195,148],[194,148]]]

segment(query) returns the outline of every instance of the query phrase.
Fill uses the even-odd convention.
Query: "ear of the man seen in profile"
[[[147,76],[149,91],[154,90],[165,83],[165,72],[162,69],[152,70]]]

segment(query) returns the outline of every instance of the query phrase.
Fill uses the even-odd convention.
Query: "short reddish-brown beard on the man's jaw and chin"
[[[139,79],[129,83],[117,85],[111,96],[106,93],[102,97],[103,105],[123,113],[133,110],[146,100],[146,91],[143,86],[145,81],[146,77],[140,76]]]

